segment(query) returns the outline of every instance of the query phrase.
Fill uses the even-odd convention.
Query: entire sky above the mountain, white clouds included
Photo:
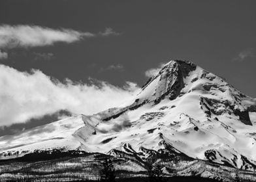
[[[0,0],[0,126],[10,133],[118,105],[174,59],[190,60],[256,98],[255,6]]]

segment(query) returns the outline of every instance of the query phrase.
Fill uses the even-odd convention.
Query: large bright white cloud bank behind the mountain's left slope
[[[103,81],[90,84],[61,83],[39,70],[19,72],[0,64],[0,125],[22,123],[59,110],[74,114],[94,114],[131,99],[138,90],[135,83],[123,88]]]

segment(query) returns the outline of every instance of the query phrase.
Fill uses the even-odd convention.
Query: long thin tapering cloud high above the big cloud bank
[[[31,25],[1,25],[0,48],[39,47],[57,42],[72,43],[85,37],[93,37],[91,32],[79,32],[72,29],[50,29]]]

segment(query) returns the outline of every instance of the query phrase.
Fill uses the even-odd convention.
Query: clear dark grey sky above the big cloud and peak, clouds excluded
[[[91,77],[122,86],[142,85],[146,70],[184,59],[256,98],[255,7],[256,1],[234,0],[0,0],[1,25],[88,33],[71,44],[0,47],[0,63],[60,81],[88,83]]]

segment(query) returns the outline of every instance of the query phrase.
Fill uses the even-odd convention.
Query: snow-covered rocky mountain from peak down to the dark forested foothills
[[[53,148],[142,161],[167,153],[253,170],[256,99],[192,62],[172,60],[119,107],[0,137],[1,159]]]

